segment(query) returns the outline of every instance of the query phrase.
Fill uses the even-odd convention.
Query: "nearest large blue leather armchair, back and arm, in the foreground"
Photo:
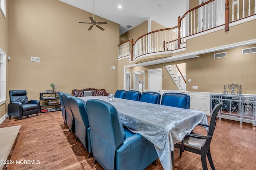
[[[150,141],[139,133],[124,131],[118,111],[110,103],[87,100],[86,110],[94,163],[107,170],[143,170],[158,158]]]

